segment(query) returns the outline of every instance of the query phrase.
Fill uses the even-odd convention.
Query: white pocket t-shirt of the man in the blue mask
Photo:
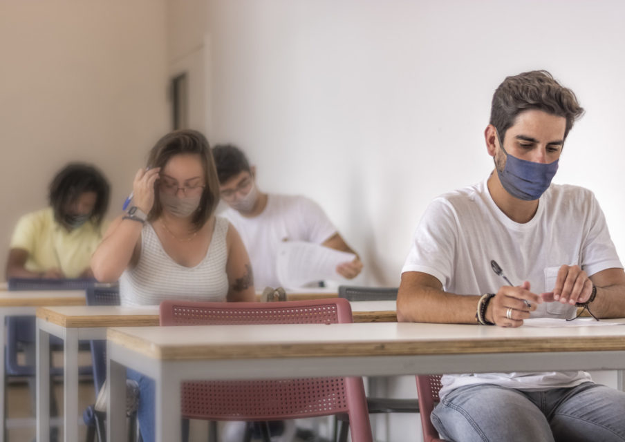
[[[552,291],[562,265],[579,265],[588,276],[623,267],[592,192],[552,184],[541,196],[534,218],[519,224],[498,209],[485,180],[429,204],[402,273],[429,273],[454,294],[496,293],[507,283],[494,273],[491,260],[512,284],[527,280],[536,294]],[[543,302],[530,316],[570,318],[574,313],[574,306]],[[479,383],[548,390],[586,381],[590,381],[586,372],[445,375],[440,394]]]

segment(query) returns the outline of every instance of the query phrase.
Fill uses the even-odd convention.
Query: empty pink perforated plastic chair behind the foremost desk
[[[341,298],[285,302],[164,301],[160,325],[351,323]],[[259,327],[259,333],[262,333]],[[272,421],[347,413],[352,440],[371,442],[361,377],[270,381],[192,381],[181,387],[183,417],[209,421]]]

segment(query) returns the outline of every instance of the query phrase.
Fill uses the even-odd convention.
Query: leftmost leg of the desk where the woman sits
[[[37,441],[50,440],[50,335],[37,319]]]

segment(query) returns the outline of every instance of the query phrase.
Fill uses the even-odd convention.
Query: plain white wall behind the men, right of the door
[[[588,186],[625,258],[618,1],[212,0],[211,142],[264,190],[305,193],[397,285],[434,196],[492,169],[483,130],[506,75],[545,68],[587,115],[555,182]]]

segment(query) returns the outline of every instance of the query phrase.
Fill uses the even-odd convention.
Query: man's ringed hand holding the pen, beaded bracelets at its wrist
[[[530,282],[525,281],[521,287],[503,286],[495,297],[490,300],[486,309],[486,319],[501,327],[519,327],[523,319],[530,317],[539,303],[541,296],[530,291]]]

